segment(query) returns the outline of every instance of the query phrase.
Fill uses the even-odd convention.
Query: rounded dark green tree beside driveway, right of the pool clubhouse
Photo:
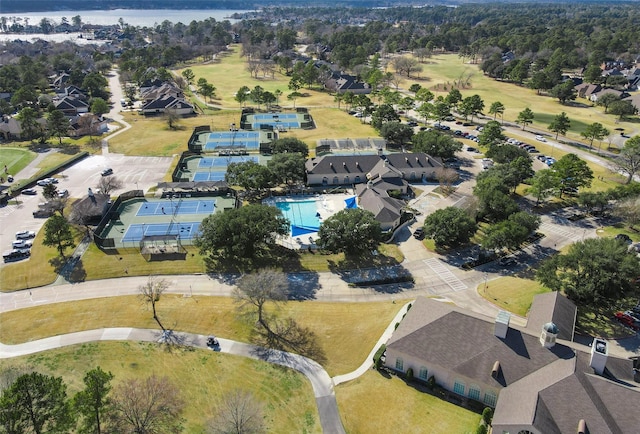
[[[437,247],[466,244],[477,230],[475,220],[453,206],[436,210],[424,221],[424,232]]]

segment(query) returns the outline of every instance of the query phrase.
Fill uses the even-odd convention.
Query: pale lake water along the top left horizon
[[[52,20],[55,24],[62,22],[62,17],[66,17],[71,22],[71,17],[80,15],[82,22],[86,24],[109,25],[118,24],[120,18],[131,26],[151,27],[160,24],[163,21],[171,21],[172,23],[189,24],[191,21],[203,21],[207,18],[215,18],[216,21],[236,22],[230,17],[234,13],[244,14],[253,12],[248,10],[234,9],[113,9],[106,11],[54,11],[54,12],[29,12],[19,14],[0,14],[0,17],[6,17],[7,24],[11,24],[14,20],[20,20],[24,23],[25,18],[29,24],[37,25],[43,18]]]

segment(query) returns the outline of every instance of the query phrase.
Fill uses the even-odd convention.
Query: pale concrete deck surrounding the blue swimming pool
[[[355,194],[355,193],[354,193]],[[320,214],[320,224],[338,211],[345,209],[346,199],[352,198],[354,194],[316,194],[311,196],[278,196],[265,199],[263,203],[265,205],[275,206],[276,202],[301,202],[315,200],[317,212]],[[291,232],[289,232],[290,234]],[[278,237],[278,243],[284,247],[293,250],[311,249],[315,250],[316,240],[318,239],[317,232],[311,232],[302,236],[292,237],[291,235]]]

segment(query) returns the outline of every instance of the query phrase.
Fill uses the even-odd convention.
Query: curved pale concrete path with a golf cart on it
[[[141,341],[158,342],[162,332],[159,330],[136,328],[104,328],[86,330],[77,333],[69,333],[61,336],[40,339],[18,345],[0,344],[0,359],[25,356],[41,351],[62,348],[69,345],[82,344],[96,341]],[[207,349],[207,336],[192,333],[175,333],[180,345]],[[345,433],[342,420],[338,412],[338,404],[333,391],[333,384],[327,371],[311,359],[298,354],[284,351],[269,350],[256,345],[229,339],[218,339],[220,346],[215,349],[221,353],[234,354],[249,357],[267,363],[275,363],[280,366],[295,369],[302,373],[311,382],[313,394],[316,398],[318,415],[322,431],[331,434]]]

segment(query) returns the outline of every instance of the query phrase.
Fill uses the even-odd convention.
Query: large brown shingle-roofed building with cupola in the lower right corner
[[[506,312],[492,320],[420,297],[389,340],[385,366],[494,407],[496,433],[637,432],[640,363],[610,355],[603,339],[586,347],[562,339],[573,330],[541,323],[573,324],[575,305],[563,298],[534,299],[539,311],[517,327]]]

